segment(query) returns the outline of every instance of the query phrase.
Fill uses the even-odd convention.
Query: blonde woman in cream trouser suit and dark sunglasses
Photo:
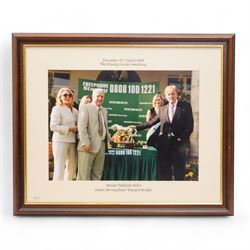
[[[61,88],[56,106],[51,112],[50,129],[53,131],[53,180],[73,180],[76,175],[76,132],[78,111],[73,107],[74,96],[69,88]]]

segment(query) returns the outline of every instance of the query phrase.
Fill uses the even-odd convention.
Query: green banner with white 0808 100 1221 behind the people
[[[146,121],[147,110],[152,107],[152,99],[159,93],[159,86],[159,82],[107,82],[79,79],[78,103],[84,95],[92,95],[93,89],[104,89],[103,106],[108,110],[108,126],[118,124],[127,127]],[[138,141],[145,142],[146,131],[141,131],[136,137]]]

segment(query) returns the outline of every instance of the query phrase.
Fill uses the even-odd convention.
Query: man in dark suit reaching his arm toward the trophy
[[[167,86],[164,91],[168,104],[149,122],[136,126],[137,130],[150,128],[160,122],[158,138],[158,179],[184,180],[185,163],[190,148],[189,137],[193,132],[193,113],[190,103],[178,100],[177,88]]]

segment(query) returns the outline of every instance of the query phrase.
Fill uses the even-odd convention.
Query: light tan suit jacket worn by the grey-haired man
[[[108,134],[108,114],[103,107],[104,125]],[[99,134],[98,110],[94,103],[83,105],[78,115],[78,150],[83,151],[83,146],[90,144],[92,153],[97,153],[101,146],[101,137]]]

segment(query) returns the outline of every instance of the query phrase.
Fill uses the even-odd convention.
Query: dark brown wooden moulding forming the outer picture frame
[[[223,45],[222,205],[26,205],[24,204],[23,52],[25,44]],[[233,215],[234,34],[12,34],[14,215]]]

